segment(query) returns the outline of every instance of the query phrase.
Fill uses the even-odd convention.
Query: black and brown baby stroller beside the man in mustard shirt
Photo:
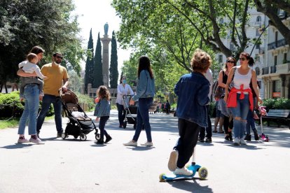
[[[67,92],[62,92],[59,90],[60,97],[62,99],[62,108],[64,114],[69,118],[67,127],[62,134],[62,139],[68,138],[69,135],[78,138],[80,136],[81,141],[87,139],[86,134],[90,131],[95,130],[95,138],[99,139],[99,134],[95,123],[92,119],[85,114],[81,106],[78,104],[78,97],[71,90]]]

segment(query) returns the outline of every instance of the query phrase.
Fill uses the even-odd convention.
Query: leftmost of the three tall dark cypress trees
[[[88,51],[91,53],[87,57],[85,62],[85,94],[88,94],[88,84],[93,83],[93,73],[94,73],[94,43],[92,40],[92,29],[90,29],[90,38],[88,41]]]

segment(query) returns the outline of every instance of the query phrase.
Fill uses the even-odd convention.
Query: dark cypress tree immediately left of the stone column
[[[97,47],[95,52],[95,68],[94,68],[93,87],[97,88],[104,85],[103,82],[103,64],[102,64],[102,44],[99,34],[97,35]]]

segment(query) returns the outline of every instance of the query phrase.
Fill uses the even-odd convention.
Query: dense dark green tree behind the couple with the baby
[[[41,64],[59,51],[65,58],[62,65],[71,64],[79,74],[85,50],[73,10],[71,0],[0,1],[0,81],[18,80],[18,64],[34,45],[46,50]]]

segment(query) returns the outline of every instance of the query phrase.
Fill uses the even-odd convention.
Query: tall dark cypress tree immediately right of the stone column
[[[117,55],[117,41],[115,31],[112,34],[111,40],[111,62],[110,62],[110,87],[117,88],[118,86],[118,55]]]

